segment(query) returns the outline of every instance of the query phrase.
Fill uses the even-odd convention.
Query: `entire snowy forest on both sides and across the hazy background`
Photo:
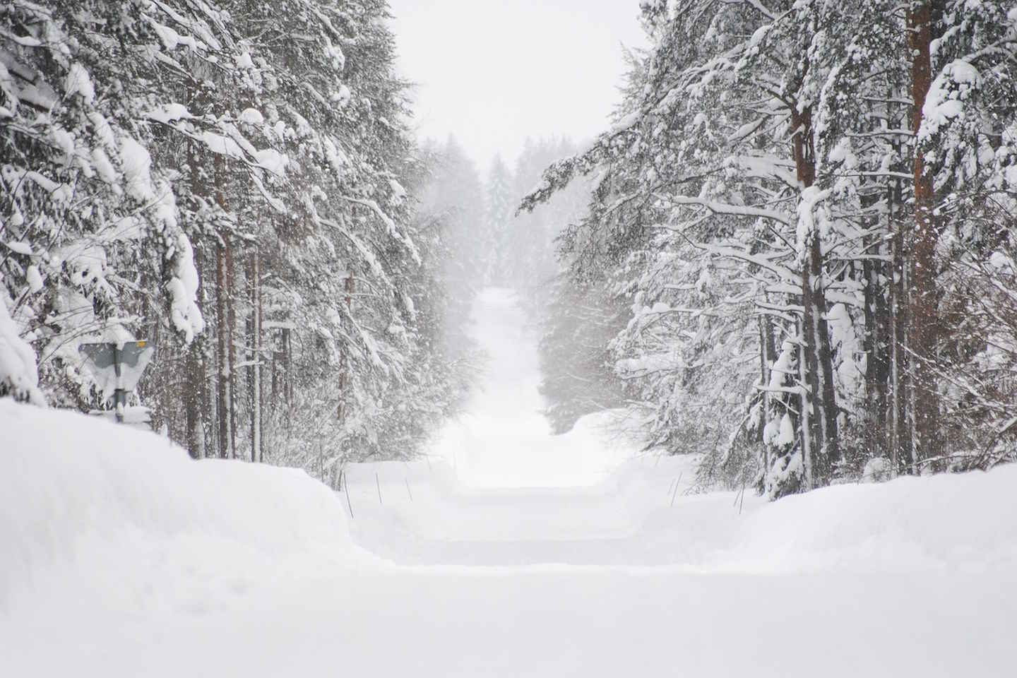
[[[552,429],[769,498],[1017,460],[1017,8],[644,0],[596,139],[418,140],[384,0],[0,7],[0,394],[195,458],[409,459],[522,293]],[[483,176],[481,176],[483,174]]]

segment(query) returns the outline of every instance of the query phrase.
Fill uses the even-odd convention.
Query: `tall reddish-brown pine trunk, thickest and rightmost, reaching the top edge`
[[[921,128],[922,108],[932,84],[932,6],[929,0],[912,0],[908,7],[908,48],[911,61],[911,99],[914,104],[912,127]],[[914,410],[914,461],[938,457],[940,400],[936,365],[939,343],[939,297],[936,289],[936,189],[925,168],[924,151],[916,141],[914,149],[914,232],[909,348]]]

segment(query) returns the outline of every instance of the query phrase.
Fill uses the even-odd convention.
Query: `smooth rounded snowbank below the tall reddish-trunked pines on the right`
[[[718,569],[1017,570],[1017,466],[840,485],[747,515]]]

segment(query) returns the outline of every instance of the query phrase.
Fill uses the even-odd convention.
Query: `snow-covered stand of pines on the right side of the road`
[[[523,206],[592,182],[559,303],[654,442],[771,498],[1017,458],[1017,7],[642,11],[613,125]]]

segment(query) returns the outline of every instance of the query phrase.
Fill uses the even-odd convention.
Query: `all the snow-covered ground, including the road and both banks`
[[[689,494],[692,459],[609,469],[609,416],[549,439],[512,298],[477,311],[447,460],[338,495],[0,402],[0,676],[1013,675],[1017,468]]]

